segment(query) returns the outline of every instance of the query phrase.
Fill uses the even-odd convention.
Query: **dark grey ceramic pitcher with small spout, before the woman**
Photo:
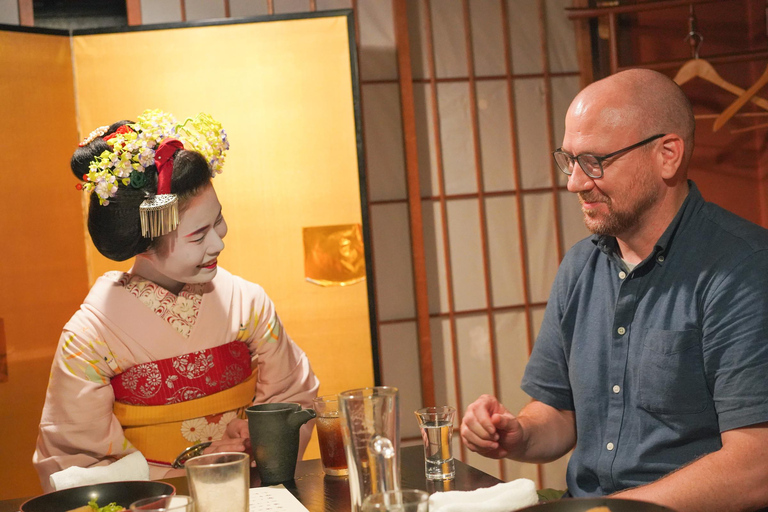
[[[256,469],[264,485],[293,480],[299,457],[299,429],[313,409],[292,402],[252,405],[245,410]]]

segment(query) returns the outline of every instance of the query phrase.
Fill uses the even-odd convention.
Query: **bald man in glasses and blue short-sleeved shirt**
[[[544,463],[572,496],[768,506],[768,230],[687,180],[694,118],[649,70],[591,84],[554,152],[594,234],[566,254],[517,416],[481,396],[464,443]]]

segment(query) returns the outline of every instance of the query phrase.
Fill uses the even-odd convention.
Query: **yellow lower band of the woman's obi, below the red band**
[[[234,410],[242,412],[251,405],[256,374],[254,369],[251,376],[240,384],[202,398],[169,405],[115,402],[112,410],[123,426],[125,437],[149,462],[170,465],[185,448],[207,440],[201,436],[224,432],[226,424],[217,423],[218,419],[211,422],[211,416]],[[226,418],[227,422],[231,419]],[[203,432],[195,433],[196,429]],[[190,441],[190,438],[197,438],[198,441]]]

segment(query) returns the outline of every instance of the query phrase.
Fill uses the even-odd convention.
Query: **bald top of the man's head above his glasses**
[[[630,69],[594,82],[573,100],[569,115],[590,111],[600,125],[634,130],[638,138],[674,133],[685,144],[681,167],[693,153],[695,120],[691,103],[668,76],[649,69]]]

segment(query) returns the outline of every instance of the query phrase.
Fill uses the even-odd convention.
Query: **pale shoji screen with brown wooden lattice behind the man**
[[[407,41],[392,5],[406,9]],[[587,235],[555,172],[563,117],[579,90],[566,0],[356,2],[381,371],[420,405],[419,280],[426,280],[434,400],[463,412],[482,393],[513,411],[564,252]],[[403,96],[406,51],[412,97]],[[402,59],[402,57],[400,57]],[[400,107],[400,111],[397,111]],[[409,204],[415,120],[423,228]],[[422,344],[423,346],[423,344]],[[428,396],[430,393],[424,393]],[[403,417],[410,414],[404,411]],[[415,422],[403,432],[417,436]],[[505,479],[563,487],[566,460],[537,467],[465,461]]]

